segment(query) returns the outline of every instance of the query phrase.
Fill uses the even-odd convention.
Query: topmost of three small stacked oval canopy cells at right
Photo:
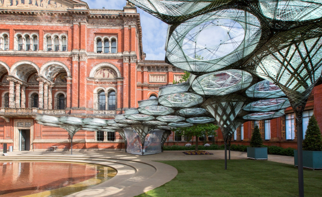
[[[283,91],[268,80],[254,84],[252,87],[246,90],[246,95],[250,98],[266,99],[285,97]]]

